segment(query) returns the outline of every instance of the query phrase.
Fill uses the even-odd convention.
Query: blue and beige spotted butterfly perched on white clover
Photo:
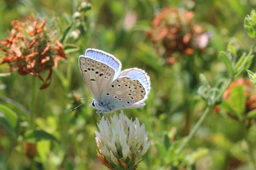
[[[139,68],[121,72],[122,64],[112,54],[88,48],[79,56],[79,68],[93,100],[90,107],[97,114],[123,108],[143,108],[150,92],[150,78]]]

